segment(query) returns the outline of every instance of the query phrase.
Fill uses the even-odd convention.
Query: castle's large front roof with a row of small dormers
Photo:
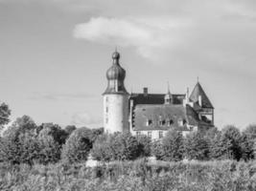
[[[147,125],[147,120],[151,120],[151,125]],[[165,124],[160,125],[159,120],[165,120]],[[172,120],[172,124],[168,125],[167,121]],[[135,131],[151,131],[151,130],[169,130],[171,128],[186,129],[186,126],[179,126],[178,121],[185,120],[189,125],[197,126],[199,121],[198,114],[194,109],[182,104],[138,104],[133,110],[133,130]]]

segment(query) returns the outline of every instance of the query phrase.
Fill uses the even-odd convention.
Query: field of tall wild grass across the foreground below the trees
[[[256,161],[0,164],[0,190],[255,191]]]

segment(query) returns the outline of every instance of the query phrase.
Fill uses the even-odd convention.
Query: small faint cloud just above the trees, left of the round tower
[[[98,128],[102,126],[101,117],[95,117],[89,112],[81,112],[73,115],[71,124],[78,127],[86,126],[89,128]]]

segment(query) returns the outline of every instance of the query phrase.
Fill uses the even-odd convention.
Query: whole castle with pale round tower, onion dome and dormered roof
[[[163,138],[170,129],[182,132],[206,131],[214,126],[214,107],[199,82],[193,92],[175,95],[128,94],[124,80],[126,71],[120,66],[120,53],[113,53],[113,64],[106,72],[104,96],[105,132],[129,131],[134,136]]]

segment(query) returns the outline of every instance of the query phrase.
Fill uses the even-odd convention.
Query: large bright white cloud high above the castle
[[[144,57],[152,57],[155,49],[174,46],[177,29],[187,27],[170,17],[91,18],[75,27],[74,36],[87,41],[135,48]]]

